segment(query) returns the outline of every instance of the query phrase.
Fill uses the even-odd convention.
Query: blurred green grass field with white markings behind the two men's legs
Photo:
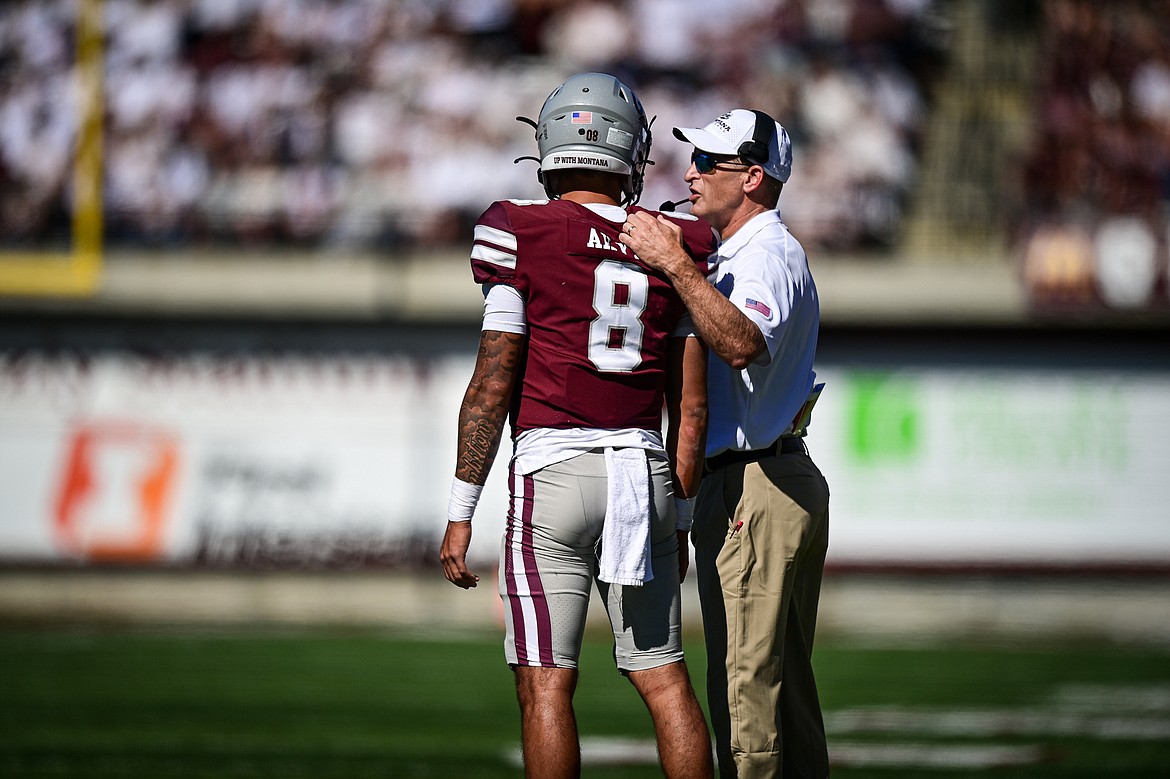
[[[584,775],[661,775],[608,653],[583,660]],[[828,636],[817,664],[839,779],[1170,775],[1170,647]],[[0,627],[7,779],[516,777],[517,746],[490,632]]]

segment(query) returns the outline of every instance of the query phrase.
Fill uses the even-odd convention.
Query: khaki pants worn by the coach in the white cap
[[[703,477],[693,530],[723,779],[828,775],[812,673],[828,485],[800,453]]]

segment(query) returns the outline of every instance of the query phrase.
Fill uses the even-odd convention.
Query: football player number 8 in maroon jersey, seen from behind
[[[494,202],[475,226],[483,329],[459,414],[443,572],[459,587],[479,581],[466,560],[470,521],[510,419],[498,587],[526,775],[579,773],[572,698],[596,585],[618,669],[653,718],[665,774],[709,777],[710,740],[680,625],[703,463],[706,351],[665,276],[618,239],[645,211],[636,202],[649,123],[629,87],[597,73],[557,87],[529,122],[548,200]],[[668,218],[706,273],[710,227]]]

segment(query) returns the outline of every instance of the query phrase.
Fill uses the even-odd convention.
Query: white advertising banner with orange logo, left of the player
[[[469,357],[5,356],[0,556],[433,563],[470,370]],[[505,504],[501,488],[486,505]],[[493,558],[502,518],[482,524],[475,552]]]

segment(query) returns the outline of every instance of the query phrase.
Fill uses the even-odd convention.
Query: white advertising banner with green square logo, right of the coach
[[[824,371],[842,560],[1170,565],[1170,374]]]

